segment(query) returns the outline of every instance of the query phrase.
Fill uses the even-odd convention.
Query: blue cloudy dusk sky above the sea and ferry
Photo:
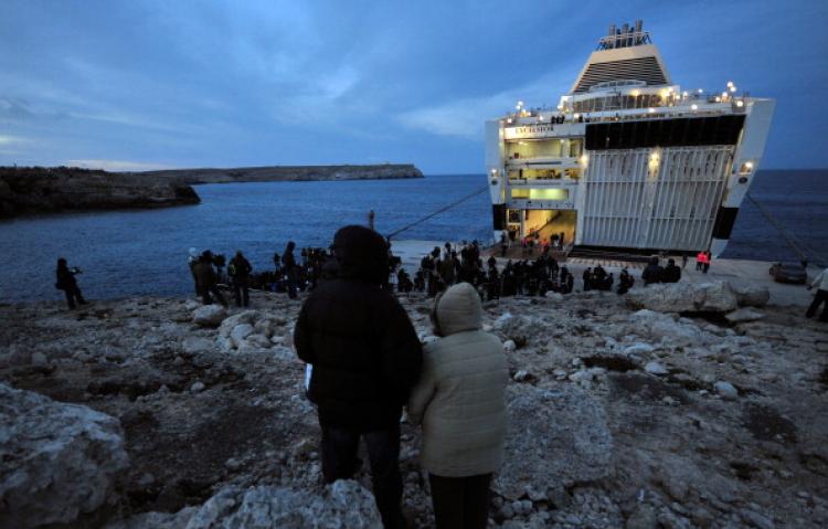
[[[682,87],[777,99],[765,168],[828,167],[826,0],[0,0],[0,165],[480,172],[636,18]]]

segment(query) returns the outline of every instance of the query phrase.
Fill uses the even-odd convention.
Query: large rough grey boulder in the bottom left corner
[[[72,523],[129,466],[117,419],[0,384],[0,527]]]

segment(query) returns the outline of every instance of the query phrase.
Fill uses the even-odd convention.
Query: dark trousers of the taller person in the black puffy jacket
[[[322,426],[322,475],[325,483],[350,479],[358,470],[357,449],[360,437],[365,440],[368,458],[371,462],[376,509],[386,528],[404,528],[401,507],[403,479],[400,475],[400,426],[389,430],[359,433]]]

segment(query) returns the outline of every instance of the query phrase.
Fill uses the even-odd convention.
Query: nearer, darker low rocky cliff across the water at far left
[[[0,218],[67,210],[197,204],[178,179],[70,167],[0,168]]]

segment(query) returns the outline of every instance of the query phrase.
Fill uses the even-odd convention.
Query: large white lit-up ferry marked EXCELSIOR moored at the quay
[[[495,240],[721,254],[775,106],[723,85],[682,91],[641,21],[611,25],[556,108],[486,123]]]

